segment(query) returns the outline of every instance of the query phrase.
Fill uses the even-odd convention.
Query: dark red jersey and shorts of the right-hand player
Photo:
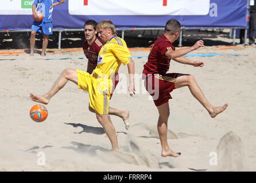
[[[175,50],[164,34],[162,34],[150,51],[148,62],[143,69],[144,85],[149,94],[153,97],[154,104],[160,106],[169,101],[170,92],[175,89],[176,78],[179,73],[168,73],[170,67],[170,58],[165,56],[166,51]]]

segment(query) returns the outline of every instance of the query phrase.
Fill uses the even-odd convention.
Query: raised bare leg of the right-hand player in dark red
[[[177,77],[175,87],[188,86],[192,95],[204,106],[212,118],[216,117],[219,113],[222,113],[227,109],[228,104],[223,106],[212,106],[204,97],[203,92],[201,92],[200,87],[197,85],[196,79],[193,75],[181,75]]]

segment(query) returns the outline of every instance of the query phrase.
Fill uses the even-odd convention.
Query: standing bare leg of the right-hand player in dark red
[[[159,134],[159,138],[162,145],[162,157],[171,156],[178,157],[181,153],[174,153],[168,145],[167,142],[167,123],[169,117],[169,102],[166,102],[163,105],[157,106],[159,112],[159,118],[157,123],[157,130]]]

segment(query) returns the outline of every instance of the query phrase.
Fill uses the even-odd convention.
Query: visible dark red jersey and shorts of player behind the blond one
[[[91,45],[88,45],[87,41],[84,41],[83,43],[83,50],[84,50],[84,55],[86,55],[86,58],[88,59],[88,62],[91,63],[93,66],[97,66],[97,61],[98,61],[98,55],[99,51],[104,45],[104,42],[99,39],[98,37],[95,38],[94,42],[91,43]],[[112,78],[113,82],[113,89],[110,93],[110,99],[113,96],[115,87],[117,86],[119,82],[119,74],[115,73],[115,77]]]

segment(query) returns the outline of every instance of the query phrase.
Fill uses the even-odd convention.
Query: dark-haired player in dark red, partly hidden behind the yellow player
[[[83,50],[84,50],[84,55],[86,55],[86,58],[88,59],[87,73],[90,73],[90,74],[97,66],[98,54],[100,49],[104,45],[104,42],[100,38],[96,37],[96,34],[97,34],[96,27],[97,27],[97,23],[92,19],[84,23],[84,36],[86,38],[86,41],[84,41],[83,43]],[[113,95],[115,86],[117,86],[118,81],[119,81],[119,75],[118,73],[115,73],[115,77],[113,77],[113,90],[110,94],[110,98]],[[90,112],[95,113],[95,110],[92,109],[90,105],[89,105],[89,110]],[[122,110],[117,110],[109,107],[108,113],[121,117],[123,122],[125,123],[125,128],[126,129],[129,128],[129,121],[128,121],[129,111],[128,110],[122,111]]]

